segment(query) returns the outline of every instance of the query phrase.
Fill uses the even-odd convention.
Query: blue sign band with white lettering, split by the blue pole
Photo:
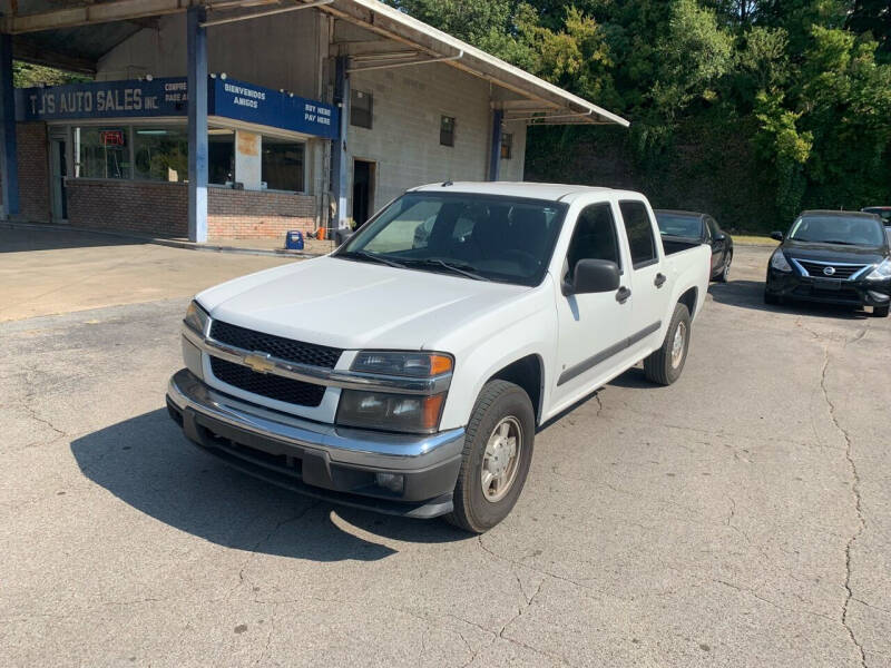
[[[186,116],[187,102],[187,84],[183,77],[19,88],[16,90],[16,120]],[[327,139],[339,135],[336,107],[232,79],[208,80],[207,107],[210,116]]]

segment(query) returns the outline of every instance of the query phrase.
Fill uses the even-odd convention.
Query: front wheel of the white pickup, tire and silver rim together
[[[467,428],[454,510],[446,519],[484,533],[508,517],[526,484],[535,438],[529,395],[507,381],[487,383]]]

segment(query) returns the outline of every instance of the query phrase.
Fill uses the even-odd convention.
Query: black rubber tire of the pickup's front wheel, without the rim
[[[506,495],[492,502],[483,492],[483,456],[496,428],[508,420],[516,421],[521,435],[516,473],[506,489]],[[446,520],[464,531],[484,533],[508,517],[526,483],[535,438],[536,414],[529,395],[519,385],[507,381],[487,383],[477,397],[467,428],[463,461],[454,487],[454,510],[446,515]]]

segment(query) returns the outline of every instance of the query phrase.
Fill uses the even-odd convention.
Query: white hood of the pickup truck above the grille
[[[345,350],[423,350],[530,288],[320,257],[198,295],[216,320]],[[444,351],[449,352],[449,351]]]

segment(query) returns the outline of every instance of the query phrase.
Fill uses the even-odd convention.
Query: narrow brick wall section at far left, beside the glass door
[[[51,209],[47,124],[17,124],[16,141],[19,156],[18,217],[32,223],[48,223]],[[2,190],[0,190],[0,204],[2,200]]]

